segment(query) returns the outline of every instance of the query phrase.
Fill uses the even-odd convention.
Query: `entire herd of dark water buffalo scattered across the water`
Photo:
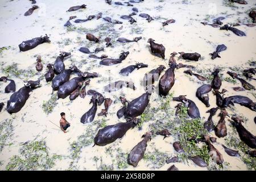
[[[121,6],[134,6],[134,3],[140,3],[143,2],[140,0],[137,1],[129,1],[129,2],[115,2],[115,5],[121,5]],[[232,2],[237,2],[240,4],[245,4],[245,1],[232,1]],[[32,1],[32,3],[36,3],[35,0]],[[106,3],[109,5],[112,5],[111,0],[106,0]],[[24,15],[28,16],[33,13],[35,9],[38,9],[39,7],[36,5],[33,5],[31,9],[29,9]],[[67,12],[69,11],[75,11],[79,9],[86,9],[86,5],[81,5],[81,6],[73,6],[70,7]],[[123,15],[121,16],[122,19],[129,19],[129,22],[131,24],[137,22],[132,16],[137,15],[138,9],[133,7],[133,13],[130,15]],[[253,18],[253,22],[255,22],[255,11],[251,11],[249,13],[249,16]],[[150,15],[148,14],[139,14],[142,18],[146,18],[148,22],[151,22],[151,20],[154,20]],[[97,19],[100,19],[102,17],[102,13],[99,13],[97,15],[90,15],[87,19],[77,19],[75,20],[75,23],[82,23],[86,22],[87,20],[92,20],[93,18],[97,17]],[[70,22],[71,19],[76,18],[76,16],[70,16],[69,20],[67,23],[65,23],[64,26],[72,26],[72,23]],[[221,20],[225,19],[224,17],[219,17],[213,20],[213,23],[210,24],[213,27],[220,27],[222,24]],[[112,18],[106,16],[104,17],[104,20],[106,20],[109,23],[114,23],[114,24],[122,24],[121,21],[119,20],[112,20]],[[163,26],[167,26],[170,23],[175,23],[174,19],[167,20],[166,22],[163,22]],[[207,22],[202,22],[204,25],[209,25]],[[246,24],[247,26],[255,26],[255,24],[250,23]],[[234,25],[233,25],[234,26]],[[246,36],[246,34],[237,28],[234,28],[233,26],[230,26],[230,24],[225,24],[224,26],[220,27],[220,30],[229,30],[234,32],[234,34],[238,36]],[[238,24],[236,24],[238,26]],[[96,37],[92,34],[87,34],[86,39],[89,41],[92,41],[94,43],[100,43],[102,42],[100,37]],[[121,43],[129,43],[129,42],[138,42],[141,40],[142,37],[136,37],[133,40],[129,40],[126,38],[118,38],[117,42]],[[109,37],[106,37],[104,39],[106,42],[106,47],[111,47],[112,46],[112,40]],[[46,36],[41,36],[40,38],[34,38],[31,40],[26,40],[23,41],[22,43],[19,44],[19,49],[20,51],[29,51],[32,48],[35,48],[39,44],[43,43],[50,43],[51,41],[49,40],[49,37]],[[163,44],[158,44],[155,43],[155,40],[152,38],[149,38],[147,41],[150,44],[150,49],[151,53],[165,59],[166,55],[164,54],[166,51],[166,48],[163,46]],[[210,53],[209,55],[211,56],[212,59],[216,59],[217,57],[220,58],[220,52],[225,51],[227,47],[224,44],[218,45],[216,50],[213,51],[213,53]],[[81,47],[79,51],[83,53],[87,53],[89,57],[92,57],[94,59],[100,59],[100,65],[104,66],[111,66],[115,64],[121,64],[123,60],[126,59],[126,57],[129,55],[129,51],[124,51],[121,52],[120,56],[118,58],[109,58],[106,55],[101,55],[100,57],[93,55],[91,53],[98,53],[100,51],[104,51],[104,48],[97,48],[95,51],[91,52],[89,48],[86,47]],[[200,53],[194,52],[194,53],[185,53],[185,52],[178,52],[179,57],[184,60],[190,60],[190,61],[199,61],[201,58]],[[152,69],[150,72],[146,73],[143,77],[142,81],[142,86],[144,86],[146,93],[143,93],[141,96],[138,98],[135,98],[132,101],[127,101],[125,97],[120,97],[120,101],[122,103],[122,107],[117,111],[117,117],[121,118],[124,117],[126,119],[126,122],[120,122],[115,125],[109,125],[104,127],[103,129],[100,129],[94,138],[94,145],[98,146],[105,146],[106,144],[110,144],[117,140],[118,138],[122,138],[123,135],[126,134],[126,132],[138,125],[140,122],[139,117],[143,111],[146,109],[148,103],[150,102],[150,96],[152,94],[152,90],[154,90],[154,82],[158,81],[159,76],[161,75],[162,72],[166,69],[164,74],[160,77],[158,86],[159,86],[159,96],[165,97],[168,95],[170,90],[172,89],[172,86],[175,84],[175,69],[180,69],[180,68],[188,68],[188,70],[184,71],[184,73],[190,75],[190,76],[196,76],[199,80],[205,81],[207,78],[200,76],[196,73],[193,73],[192,70],[195,69],[192,65],[184,65],[182,63],[177,64],[175,60],[175,56],[177,55],[176,52],[171,53],[171,57],[169,60],[169,68],[164,67],[164,65],[159,65],[158,68]],[[84,98],[87,95],[92,96],[89,104],[92,103],[92,107],[86,111],[84,115],[81,116],[80,122],[85,124],[85,123],[90,123],[93,122],[94,117],[97,112],[97,106],[100,106],[101,104],[104,103],[105,109],[102,109],[100,113],[98,113],[98,116],[102,115],[107,115],[108,114],[108,109],[110,105],[112,104],[111,98],[105,98],[101,93],[97,92],[96,90],[88,90],[86,92],[85,88],[87,85],[89,85],[90,80],[89,78],[94,78],[98,77],[98,73],[90,73],[90,72],[82,72],[79,68],[77,68],[75,65],[71,65],[69,68],[65,68],[64,60],[67,59],[67,57],[71,56],[70,52],[60,52],[60,55],[56,57],[56,60],[54,61],[53,64],[48,63],[46,67],[48,68],[47,73],[45,73],[44,77],[47,82],[52,82],[52,93],[57,91],[57,97],[65,99],[66,97],[69,96],[70,100],[75,100],[77,97]],[[43,69],[43,64],[41,63],[41,57],[38,56],[36,60],[36,70],[38,72],[42,71]],[[122,76],[129,76],[131,72],[133,72],[136,68],[141,69],[141,68],[146,68],[148,67],[147,64],[144,63],[137,63],[135,65],[129,65],[129,67],[121,69],[119,72],[120,75]],[[216,96],[216,105],[217,107],[213,107],[212,109],[209,109],[207,113],[209,113],[209,118],[207,121],[204,123],[204,128],[206,130],[214,131],[216,136],[218,138],[223,138],[226,137],[227,135],[227,128],[225,124],[225,118],[229,117],[228,112],[226,111],[226,107],[233,105],[234,104],[239,104],[241,106],[245,106],[250,110],[256,111],[256,102],[253,102],[250,100],[250,98],[247,98],[245,96],[229,96],[229,97],[224,97],[224,93],[227,92],[226,89],[222,88],[222,80],[219,76],[220,70],[216,68],[213,72],[213,79],[210,84],[204,84],[201,85],[197,91],[195,96],[203,102],[203,104],[206,107],[210,107],[209,104],[209,92],[213,90],[214,95]],[[243,75],[247,78],[247,80],[254,79],[253,75],[255,75],[256,70],[255,68],[249,68],[245,69],[243,71]],[[72,78],[70,80],[70,77],[72,74],[76,74],[77,76]],[[230,75],[232,78],[235,78],[239,80],[242,84],[242,87],[236,87],[233,88],[234,90],[238,91],[243,91],[243,90],[255,90],[254,86],[251,85],[249,82],[238,76],[237,73],[235,72],[228,72],[228,75]],[[30,93],[32,90],[38,88],[40,85],[40,80],[36,81],[26,81],[26,84],[22,88],[20,88],[18,91],[16,91],[16,86],[14,80],[10,80],[8,78],[9,76],[2,76],[0,78],[0,81],[7,82],[9,81],[9,85],[6,86],[5,88],[5,93],[10,93],[13,92],[11,95],[10,99],[7,101],[7,106],[6,110],[8,113],[17,113],[22,109],[22,107],[26,104],[26,101],[30,97]],[[24,81],[25,82],[25,81]],[[127,88],[131,88],[133,90],[136,89],[135,85],[131,81],[116,81],[113,83],[110,83],[109,85],[104,86],[105,92],[114,92],[118,89],[121,89],[122,86],[125,86]],[[180,102],[177,104],[176,108],[177,111],[181,108],[181,106],[187,107],[187,114],[191,118],[200,118],[200,110],[196,106],[195,102],[192,100],[189,100],[186,96],[181,95],[177,97],[173,97],[173,101]],[[0,104],[0,111],[2,110],[3,102]],[[216,114],[217,110],[220,109],[220,121],[218,121],[217,125],[214,125],[214,122],[212,120],[212,117],[214,114]],[[177,112],[176,112],[177,113]],[[256,118],[256,117],[255,117]],[[243,127],[242,122],[243,119],[241,117],[232,117],[233,124],[237,129],[237,133],[240,136],[241,140],[247,144],[250,148],[256,148],[256,137],[251,134],[248,130]],[[256,120],[256,119],[254,119]],[[170,132],[165,129],[162,131],[156,132],[158,135],[163,135],[164,138],[169,137],[171,134]],[[143,158],[144,152],[146,151],[147,143],[151,140],[151,135],[152,131],[148,131],[146,134],[144,134],[142,137],[143,139],[141,142],[139,142],[136,146],[133,147],[131,150],[127,162],[131,164],[132,166],[136,167],[139,163],[139,160]],[[196,142],[205,142],[208,145],[208,150],[209,150],[209,155],[210,157],[216,162],[217,164],[222,164],[224,162],[224,159],[222,157],[222,154],[213,146],[213,143],[216,142],[216,138],[214,137],[209,137],[208,135],[203,135],[200,139],[199,138],[190,138],[188,140],[195,140]],[[182,146],[180,145],[179,142],[174,142],[173,144],[175,150],[177,152],[184,152]],[[224,145],[222,145],[225,149],[225,152],[230,155],[230,156],[239,156],[238,151],[232,150]],[[256,156],[256,150],[250,150],[247,151],[247,154],[250,156],[255,157]],[[189,156],[189,159],[191,159],[195,164],[201,167],[206,167],[207,163],[204,162],[203,159],[201,159],[199,156]],[[168,159],[166,162],[167,163],[175,163],[178,162],[177,157],[173,157],[171,159]],[[178,170],[174,165],[172,165],[168,170]]]

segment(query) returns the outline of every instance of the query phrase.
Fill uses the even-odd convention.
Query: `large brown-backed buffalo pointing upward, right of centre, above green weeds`
[[[175,73],[174,70],[177,67],[176,63],[172,63],[170,68],[167,69],[166,73],[160,78],[159,81],[159,95],[167,96],[172,86],[175,83]]]

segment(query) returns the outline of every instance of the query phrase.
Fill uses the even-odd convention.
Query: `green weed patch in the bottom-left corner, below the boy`
[[[19,150],[20,155],[14,155],[6,166],[6,170],[46,170],[55,166],[60,155],[50,156],[46,143],[43,140],[24,143]]]

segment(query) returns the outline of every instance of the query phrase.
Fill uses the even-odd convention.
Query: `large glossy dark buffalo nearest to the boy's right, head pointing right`
[[[94,137],[94,145],[105,146],[112,143],[118,138],[122,138],[129,129],[135,127],[138,123],[139,119],[134,118],[133,121],[106,126],[104,129],[98,130],[96,137]]]

